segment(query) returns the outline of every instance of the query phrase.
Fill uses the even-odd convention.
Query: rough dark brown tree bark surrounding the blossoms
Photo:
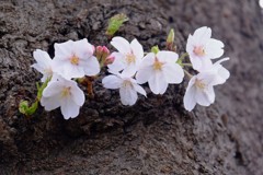
[[[231,72],[215,104],[186,113],[185,81],[125,107],[99,78],[78,118],[43,108],[22,116],[18,104],[34,100],[41,77],[30,68],[33,50],[54,56],[54,43],[68,39],[107,44],[107,20],[119,12],[130,20],[117,35],[145,49],[163,48],[174,27],[184,51],[190,33],[210,26],[226,44]],[[262,31],[255,0],[0,1],[0,174],[262,175]]]

